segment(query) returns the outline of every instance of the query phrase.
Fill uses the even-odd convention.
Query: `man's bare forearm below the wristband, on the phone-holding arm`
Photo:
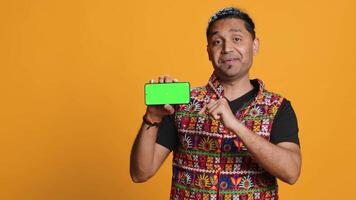
[[[157,127],[142,123],[131,150],[130,173],[135,182],[147,180],[153,175],[153,158]]]

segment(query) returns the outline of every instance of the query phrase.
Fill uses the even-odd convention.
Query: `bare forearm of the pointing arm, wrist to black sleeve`
[[[252,157],[266,171],[289,184],[296,182],[300,173],[299,152],[270,143],[240,122],[236,123],[232,131],[239,136]]]

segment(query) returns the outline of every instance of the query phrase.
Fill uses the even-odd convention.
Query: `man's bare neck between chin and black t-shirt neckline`
[[[225,97],[230,101],[241,97],[253,89],[248,75],[236,80],[220,80],[220,83],[224,87]]]

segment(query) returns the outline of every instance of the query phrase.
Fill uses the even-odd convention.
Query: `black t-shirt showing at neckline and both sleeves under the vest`
[[[233,101],[229,101],[233,113],[236,113],[245,103],[252,101],[256,97],[259,85],[257,81],[254,80],[252,80],[251,83],[254,86],[251,91]],[[178,131],[174,124],[174,115],[166,116],[163,118],[158,129],[156,142],[172,151],[177,144],[177,134]],[[274,118],[270,142],[273,144],[293,142],[299,145],[297,118],[290,101],[287,99],[283,99]]]

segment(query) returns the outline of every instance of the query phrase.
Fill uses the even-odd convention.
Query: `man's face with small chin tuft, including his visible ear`
[[[216,75],[222,80],[236,80],[248,75],[259,42],[252,39],[244,21],[236,18],[218,20],[211,33],[207,50]]]

